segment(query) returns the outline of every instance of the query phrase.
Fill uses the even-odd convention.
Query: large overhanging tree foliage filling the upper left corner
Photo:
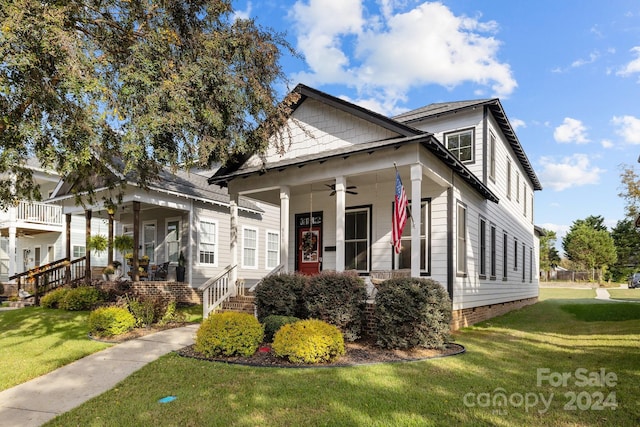
[[[96,156],[145,185],[261,152],[295,101],[290,45],[229,0],[0,0],[0,28],[0,203],[39,197],[30,157],[86,191]]]

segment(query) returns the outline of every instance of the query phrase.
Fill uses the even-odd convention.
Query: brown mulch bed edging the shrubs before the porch
[[[410,350],[385,350],[376,347],[373,342],[358,341],[345,343],[346,354],[333,363],[315,363],[311,365],[296,364],[286,359],[276,357],[268,344],[260,346],[260,349],[250,357],[230,356],[210,358],[198,353],[193,346],[178,350],[178,354],[212,362],[233,363],[248,366],[280,367],[280,368],[316,368],[369,365],[374,363],[411,362],[417,360],[433,359],[437,357],[454,356],[462,354],[465,348],[460,344],[449,343],[442,350],[435,349],[410,349]]]

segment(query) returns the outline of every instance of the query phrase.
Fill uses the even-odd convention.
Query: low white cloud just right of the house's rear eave
[[[586,154],[574,154],[556,161],[551,157],[540,159],[543,187],[563,191],[571,187],[597,184],[605,170],[592,166]]]

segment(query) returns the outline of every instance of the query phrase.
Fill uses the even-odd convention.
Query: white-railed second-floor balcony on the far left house
[[[20,201],[15,207],[0,212],[0,227],[58,229],[63,226],[62,208],[42,202]]]

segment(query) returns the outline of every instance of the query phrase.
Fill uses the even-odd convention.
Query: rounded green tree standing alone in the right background
[[[569,260],[594,272],[596,269],[606,270],[616,262],[614,241],[603,222],[600,216],[589,216],[573,222],[562,241]]]

